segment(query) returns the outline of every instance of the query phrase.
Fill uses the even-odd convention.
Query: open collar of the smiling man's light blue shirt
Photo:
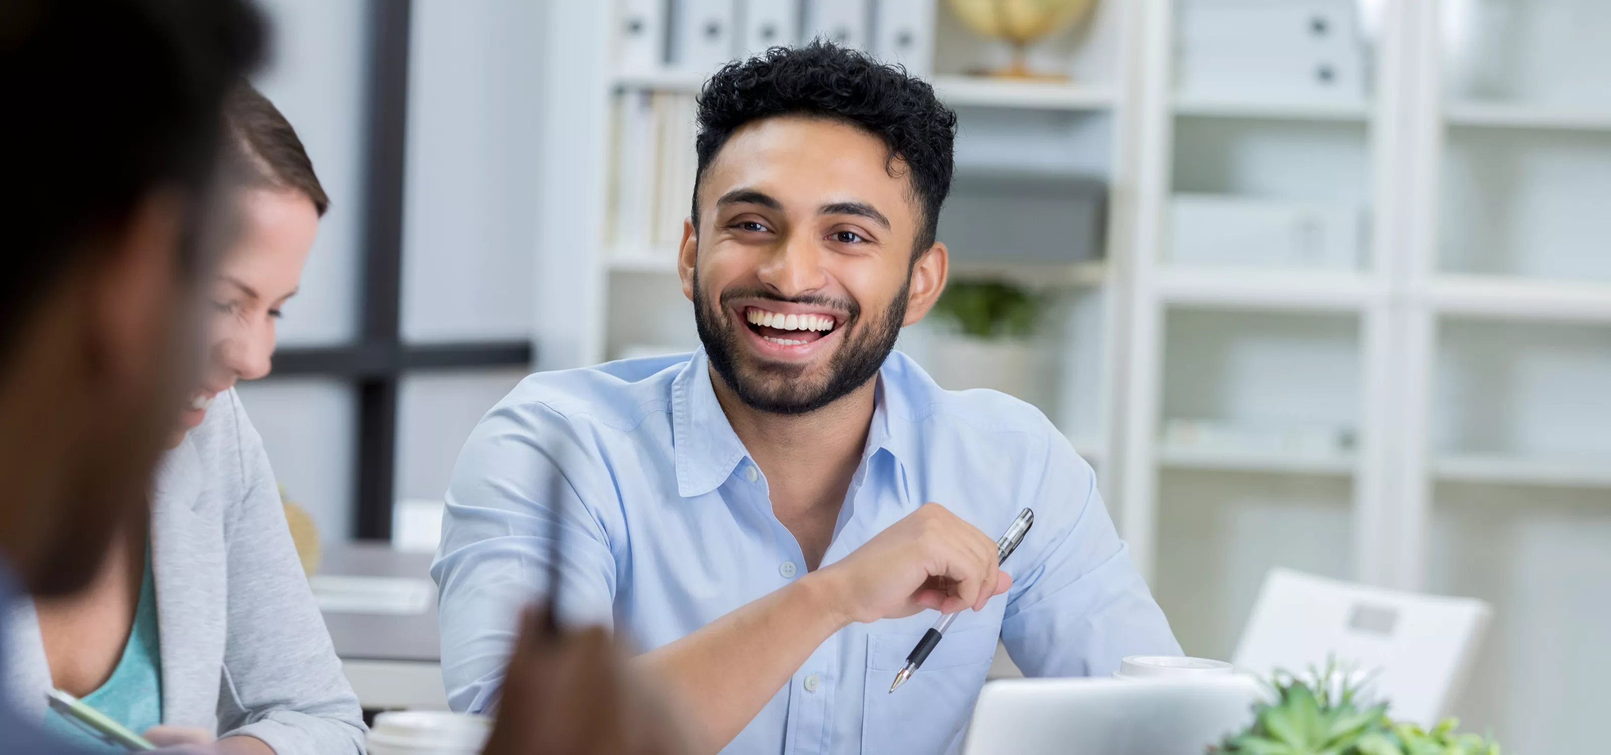
[[[909,385],[913,380],[918,385]],[[928,382],[920,369],[899,351],[891,353],[878,370],[878,391],[873,422],[867,431],[863,462],[878,451],[888,451],[897,465],[912,460],[917,449],[917,431],[926,415],[917,412],[913,390],[923,393]],[[694,353],[672,382],[672,444],[677,452],[677,493],[683,497],[701,496],[722,486],[733,468],[749,456],[744,443],[733,431],[727,412],[710,385],[710,362],[704,348]],[[865,465],[863,465],[865,468]]]

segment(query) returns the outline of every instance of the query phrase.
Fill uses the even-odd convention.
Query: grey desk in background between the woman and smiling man
[[[408,576],[430,581],[432,554],[404,554],[385,543],[332,543],[324,546],[321,575]],[[437,599],[424,613],[408,617],[325,612],[335,655],[342,660],[408,660],[438,663]]]

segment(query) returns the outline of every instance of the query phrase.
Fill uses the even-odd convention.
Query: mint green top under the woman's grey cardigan
[[[93,692],[81,697],[89,705],[135,734],[163,723],[163,665],[156,634],[156,581],[151,580],[151,549],[145,549],[145,576],[140,578],[140,602],[134,609],[134,629],[129,644],[122,647],[118,668],[111,678]],[[45,728],[72,739],[77,744],[101,752],[126,752],[122,747],[101,742],[77,723],[50,710]]]

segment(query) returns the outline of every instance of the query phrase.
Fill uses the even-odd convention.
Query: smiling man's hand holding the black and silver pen
[[[923,504],[810,576],[828,584],[847,621],[863,623],[925,609],[979,610],[1012,586],[999,568],[996,541],[939,504]]]

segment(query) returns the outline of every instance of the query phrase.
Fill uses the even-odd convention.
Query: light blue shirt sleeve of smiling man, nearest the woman
[[[470,433],[430,568],[441,594],[441,675],[453,710],[496,707],[519,612],[548,594],[556,534],[561,617],[612,625],[615,559],[598,509],[588,507],[615,496],[607,475],[598,480],[603,468],[596,444],[540,402],[499,404]]]

